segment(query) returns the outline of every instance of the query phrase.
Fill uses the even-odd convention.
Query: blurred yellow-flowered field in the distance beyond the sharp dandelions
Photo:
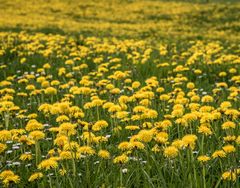
[[[238,0],[0,0],[0,30],[239,41]]]

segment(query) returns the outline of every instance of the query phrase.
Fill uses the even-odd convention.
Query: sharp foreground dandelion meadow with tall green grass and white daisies
[[[0,187],[239,187],[239,52],[0,31]]]

